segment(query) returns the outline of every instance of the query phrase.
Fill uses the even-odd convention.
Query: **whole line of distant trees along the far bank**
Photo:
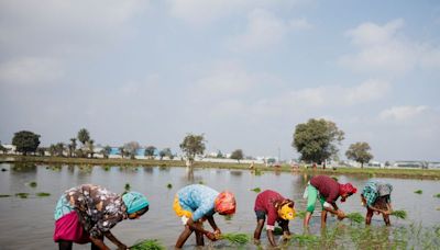
[[[12,145],[16,147],[18,152],[23,155],[33,154],[44,156],[47,151],[51,156],[94,158],[96,148],[95,140],[91,139],[90,133],[86,128],[79,129],[77,136],[70,138],[68,144],[52,144],[48,148],[38,147],[40,137],[40,135],[33,132],[21,130],[14,133]],[[336,123],[323,118],[310,118],[307,123],[296,125],[292,146],[300,155],[301,161],[320,164],[326,162],[326,160],[339,160],[339,147],[343,139],[344,132],[339,129]],[[77,141],[81,145],[78,145]],[[206,143],[204,134],[187,134],[179,144],[179,147],[185,154],[186,159],[193,163],[196,156],[202,156],[205,154]],[[141,148],[138,141],[130,141],[119,147],[118,154],[122,158],[134,159]],[[157,148],[147,146],[144,149],[144,156],[148,159],[153,159]],[[3,152],[7,151],[1,144],[0,150]],[[105,146],[99,152],[105,158],[108,158],[111,152],[111,147]],[[173,159],[175,157],[170,148],[164,148],[160,150],[157,155],[161,159],[164,157]],[[222,157],[220,151],[218,155]],[[371,147],[365,141],[351,144],[345,151],[345,156],[348,159],[360,162],[362,167],[373,159]],[[230,158],[238,160],[240,163],[240,160],[244,159],[244,152],[242,149],[235,149],[232,151]]]

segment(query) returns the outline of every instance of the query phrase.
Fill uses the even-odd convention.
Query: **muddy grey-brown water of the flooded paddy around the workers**
[[[147,214],[138,220],[124,220],[118,224],[112,232],[124,243],[131,245],[138,239],[160,239],[167,248],[172,248],[180,234],[183,226],[172,209],[176,191],[190,183],[205,183],[218,191],[228,189],[235,193],[238,211],[232,220],[226,220],[216,215],[216,221],[222,231],[242,231],[252,234],[255,227],[253,205],[256,193],[261,190],[276,190],[296,202],[297,209],[305,209],[304,189],[310,177],[297,173],[264,172],[255,175],[248,170],[196,169],[193,172],[185,168],[161,167],[48,167],[48,166],[13,166],[0,164],[0,194],[11,194],[11,197],[0,197],[0,249],[57,249],[52,240],[54,228],[53,211],[63,191],[82,183],[95,183],[110,191],[122,193],[125,183],[132,191],[144,193],[151,203]],[[336,175],[340,182],[352,182],[359,189],[369,179]],[[439,181],[421,181],[407,179],[381,179],[394,185],[392,200],[396,209],[408,212],[409,219],[396,220],[394,226],[410,223],[421,223],[425,227],[440,225],[440,198],[433,197],[440,193]],[[36,182],[36,188],[29,185]],[[172,189],[167,184],[173,185]],[[414,191],[422,190],[422,194]],[[36,197],[37,192],[51,193],[47,197]],[[15,193],[30,193],[28,198],[15,197]],[[318,207],[318,206],[317,206]],[[345,212],[365,213],[360,205],[359,195],[340,204]],[[329,225],[334,223],[330,218]],[[374,226],[382,226],[380,217],[374,217]],[[207,225],[208,226],[208,225]],[[290,230],[301,232],[300,219],[289,224]],[[315,213],[311,231],[319,234],[319,213]],[[263,234],[263,242],[266,241]],[[114,248],[109,242],[109,246]],[[224,243],[216,242],[215,248],[224,248]],[[185,249],[194,249],[191,237]],[[249,249],[255,249],[249,246]],[[76,245],[74,249],[89,249]]]

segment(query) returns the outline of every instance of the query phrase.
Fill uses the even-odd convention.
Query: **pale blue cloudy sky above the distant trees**
[[[332,121],[340,157],[440,161],[435,0],[1,0],[0,140],[298,158],[298,124]]]

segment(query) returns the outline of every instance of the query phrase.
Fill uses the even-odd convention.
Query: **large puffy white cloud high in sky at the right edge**
[[[438,46],[410,41],[404,36],[404,20],[384,25],[363,23],[345,33],[359,52],[344,55],[339,63],[358,72],[402,76],[417,66],[440,67]]]

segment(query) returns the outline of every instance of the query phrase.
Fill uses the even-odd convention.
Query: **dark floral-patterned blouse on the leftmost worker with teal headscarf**
[[[119,221],[127,219],[127,206],[122,196],[92,184],[67,190],[66,200],[78,213],[86,231],[94,238],[102,237]]]

